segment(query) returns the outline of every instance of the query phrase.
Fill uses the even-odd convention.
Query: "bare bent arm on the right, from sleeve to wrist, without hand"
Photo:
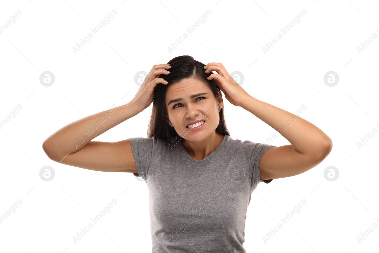
[[[263,180],[301,174],[321,163],[332,150],[329,136],[293,113],[252,96],[245,96],[240,106],[262,119],[291,143],[268,148],[263,153],[259,162]]]

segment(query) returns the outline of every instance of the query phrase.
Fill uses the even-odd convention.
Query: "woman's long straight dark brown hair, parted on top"
[[[167,123],[165,118],[165,115],[167,115],[167,110],[166,101],[164,101],[164,98],[166,97],[166,91],[168,86],[180,82],[182,79],[194,78],[208,85],[216,100],[219,97],[219,89],[215,79],[207,79],[207,77],[213,74],[212,71],[209,74],[205,73],[205,64],[196,61],[193,57],[189,55],[175,57],[171,59],[167,64],[170,64],[171,66],[171,68],[169,69],[171,73],[167,75],[160,74],[157,78],[163,78],[168,82],[168,84],[164,85],[158,83],[154,88],[153,108],[150,117],[149,127],[147,130],[147,137],[161,138],[162,140],[168,141],[170,143],[172,141],[178,142],[182,139],[182,137],[179,134],[177,134],[174,127],[171,127]],[[220,92],[222,94],[222,91]],[[230,135],[225,124],[223,107],[224,103],[222,103],[222,108],[219,112],[220,121],[218,127],[216,128],[216,132],[222,135]]]

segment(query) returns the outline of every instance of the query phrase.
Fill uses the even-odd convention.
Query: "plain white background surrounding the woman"
[[[379,35],[378,7],[376,1],[357,0],[2,1],[0,25],[17,10],[22,14],[0,34],[0,121],[17,105],[22,109],[0,129],[0,215],[10,214],[0,224],[0,250],[151,252],[146,183],[131,173],[54,162],[42,143],[73,121],[130,102],[139,88],[137,72],[191,55],[204,64],[221,62],[229,73],[240,71],[241,86],[261,101],[291,113],[305,105],[301,117],[333,141],[329,156],[311,170],[258,185],[247,209],[246,251],[377,251],[379,228],[360,243],[357,236],[379,225],[374,159],[379,134],[360,148],[357,142],[379,130],[379,38],[361,53],[357,47]],[[111,22],[75,54],[73,47],[113,9]],[[208,9],[204,24],[189,34],[186,28]],[[283,34],[280,29],[303,9],[300,22]],[[188,38],[169,52],[183,33]],[[283,38],[264,53],[262,47],[278,33]],[[55,75],[49,87],[39,82],[44,71]],[[324,83],[329,71],[339,76],[335,86]],[[268,143],[276,130],[223,98],[231,137]],[[151,107],[94,140],[146,137]],[[271,142],[288,144],[281,135]],[[44,166],[54,169],[52,181],[40,178]],[[328,166],[340,173],[333,182],[324,178]],[[113,199],[111,212],[75,244],[76,233]],[[302,199],[300,212],[265,243],[262,237],[283,224],[280,219]],[[22,204],[8,212],[17,200]]]

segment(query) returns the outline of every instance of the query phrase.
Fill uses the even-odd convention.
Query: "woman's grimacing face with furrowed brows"
[[[166,91],[166,120],[180,137],[190,141],[204,141],[213,134],[219,124],[219,108],[222,107],[221,91],[215,99],[210,88],[194,78],[183,79],[170,85]],[[194,96],[195,95],[195,96]],[[186,126],[191,122],[205,121],[198,130]]]

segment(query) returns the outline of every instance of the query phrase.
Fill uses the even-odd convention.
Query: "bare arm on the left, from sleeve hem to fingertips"
[[[158,83],[167,84],[169,64],[154,65],[128,104],[74,121],[50,135],[42,148],[47,156],[63,164],[97,171],[138,173],[130,141],[91,141],[103,132],[132,118],[150,106]]]

